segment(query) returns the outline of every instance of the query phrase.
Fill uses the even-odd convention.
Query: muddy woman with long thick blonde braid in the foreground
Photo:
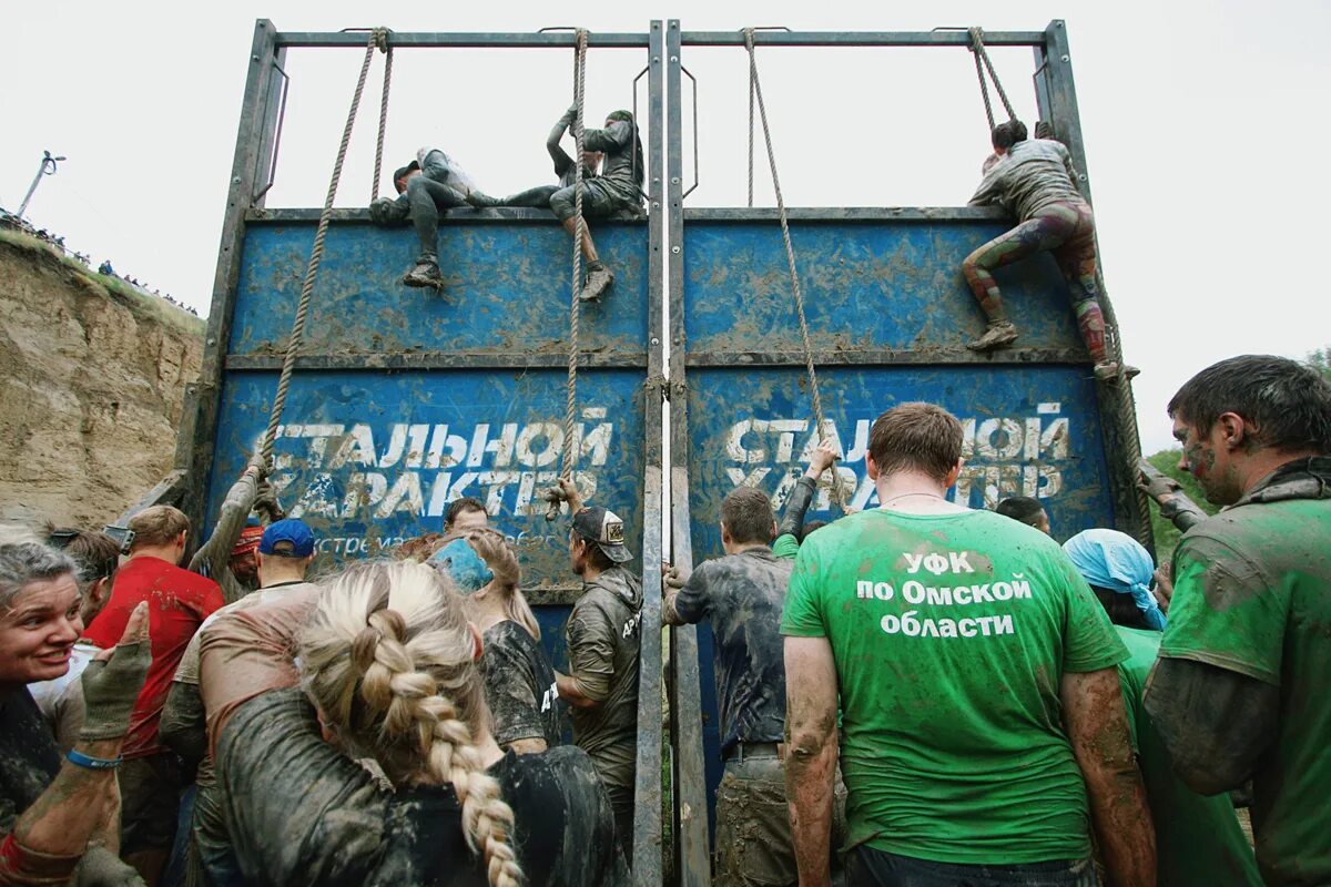
[[[209,625],[201,689],[248,883],[627,883],[590,758],[499,750],[479,646],[449,578],[414,563],[359,564]],[[277,689],[293,653],[303,688]],[[228,665],[226,689],[210,685]]]

